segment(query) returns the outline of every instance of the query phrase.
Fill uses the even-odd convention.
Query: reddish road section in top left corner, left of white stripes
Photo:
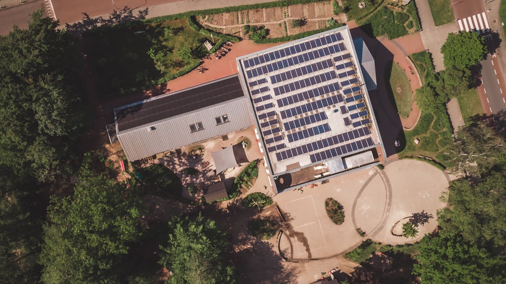
[[[28,28],[30,14],[43,8],[44,2],[37,1],[0,11],[0,35],[8,34],[14,25]]]

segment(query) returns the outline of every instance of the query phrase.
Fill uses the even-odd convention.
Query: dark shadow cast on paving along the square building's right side
[[[370,24],[368,24],[370,25]],[[367,25],[353,28],[350,30],[352,37],[356,38],[361,36],[364,40],[367,48],[375,59],[376,67],[376,84],[377,89],[369,91],[370,104],[376,116],[379,133],[381,133],[383,144],[385,147],[386,155],[391,156],[403,148],[396,147],[395,141],[400,140],[401,145],[406,145],[404,138],[404,131],[402,129],[401,119],[397,112],[395,103],[392,104],[389,98],[387,88],[390,86],[386,85],[388,82],[389,74],[385,74],[386,67],[389,62],[394,60],[394,54],[392,54],[377,38],[369,37],[363,29],[370,29]],[[388,39],[385,39],[388,40]],[[401,54],[400,56],[404,56]]]

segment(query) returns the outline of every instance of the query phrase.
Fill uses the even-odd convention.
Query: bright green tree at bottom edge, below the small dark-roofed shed
[[[159,263],[174,273],[170,283],[235,283],[233,267],[223,261],[227,237],[215,221],[173,217],[168,225],[173,232],[160,246]]]

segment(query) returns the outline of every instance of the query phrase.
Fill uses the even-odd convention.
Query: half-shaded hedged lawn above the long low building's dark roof
[[[136,33],[143,32],[143,33]],[[132,22],[83,36],[90,56],[96,89],[112,97],[165,82],[207,54],[203,42],[210,38],[192,30],[185,19],[157,24]],[[195,59],[182,60],[186,48]]]

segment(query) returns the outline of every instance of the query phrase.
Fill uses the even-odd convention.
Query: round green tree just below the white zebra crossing
[[[460,31],[448,33],[446,42],[441,47],[444,66],[469,68],[482,60],[487,48],[482,36],[477,32]]]

